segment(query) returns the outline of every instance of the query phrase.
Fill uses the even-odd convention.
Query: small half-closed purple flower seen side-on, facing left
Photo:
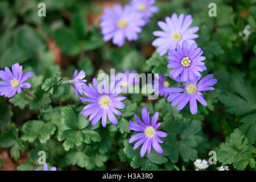
[[[76,93],[76,97],[78,96],[78,94],[82,94],[82,87],[85,85],[86,80],[83,80],[83,78],[85,77],[85,72],[84,71],[80,71],[77,75],[77,69],[74,73],[74,76],[71,80],[71,84],[73,86],[73,88],[75,89],[75,93]]]

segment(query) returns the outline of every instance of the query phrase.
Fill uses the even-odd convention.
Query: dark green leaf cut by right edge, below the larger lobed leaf
[[[246,135],[249,143],[254,144],[256,140],[256,114],[246,115],[240,119],[242,133]]]

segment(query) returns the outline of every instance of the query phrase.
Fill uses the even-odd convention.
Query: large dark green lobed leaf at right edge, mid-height
[[[256,109],[256,98],[249,84],[245,84],[240,76],[232,81],[232,88],[239,96],[233,93],[222,94],[219,100],[228,107],[230,114],[243,115]]]

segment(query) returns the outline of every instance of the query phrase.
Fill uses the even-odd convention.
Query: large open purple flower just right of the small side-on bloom
[[[81,101],[90,102],[82,109],[82,115],[84,117],[90,115],[89,121],[92,121],[92,125],[96,125],[98,121],[102,118],[102,126],[106,127],[106,118],[114,125],[118,124],[117,118],[114,114],[122,115],[117,109],[122,109],[125,107],[121,101],[125,100],[126,97],[117,97],[118,92],[114,88],[114,85],[108,86],[105,79],[102,79],[102,88],[98,85],[96,78],[93,78],[93,86],[84,86],[84,94],[89,98],[80,97]],[[114,113],[114,114],[113,114]]]

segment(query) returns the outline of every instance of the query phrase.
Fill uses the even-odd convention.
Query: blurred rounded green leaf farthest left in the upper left
[[[20,27],[16,35],[16,44],[27,55],[35,56],[44,51],[43,39],[28,26]]]

